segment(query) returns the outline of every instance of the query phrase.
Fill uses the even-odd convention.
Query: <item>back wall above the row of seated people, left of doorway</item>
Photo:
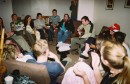
[[[13,11],[24,18],[29,14],[36,18],[38,12],[43,15],[52,15],[52,9],[57,9],[58,15],[63,18],[65,13],[70,15],[71,0],[12,0]]]

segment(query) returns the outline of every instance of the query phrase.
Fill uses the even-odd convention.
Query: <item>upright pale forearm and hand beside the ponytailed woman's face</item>
[[[101,72],[99,70],[100,57],[95,52],[91,52],[91,57],[92,57],[92,67],[93,67],[94,75],[95,75],[97,84],[100,84],[103,79]]]

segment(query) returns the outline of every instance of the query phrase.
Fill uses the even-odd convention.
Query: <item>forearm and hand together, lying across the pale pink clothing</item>
[[[75,75],[80,76],[83,78],[84,84],[90,84],[90,81],[88,80],[88,76],[83,70],[79,70],[78,68],[74,67],[73,69]]]

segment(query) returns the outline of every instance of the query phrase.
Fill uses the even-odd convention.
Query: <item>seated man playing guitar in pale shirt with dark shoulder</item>
[[[79,45],[82,47],[82,44],[88,37],[95,37],[95,30],[93,28],[93,23],[89,20],[87,16],[81,18],[82,24],[78,27],[77,32],[79,37],[71,38],[71,50],[78,49]],[[84,30],[84,32],[82,32]]]

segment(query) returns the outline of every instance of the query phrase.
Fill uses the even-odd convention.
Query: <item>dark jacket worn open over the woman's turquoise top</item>
[[[59,29],[60,29],[60,27],[62,27],[63,23],[64,23],[64,19],[62,19],[60,24],[58,25]],[[66,30],[71,31],[72,33],[74,33],[75,28],[74,28],[73,21],[71,19],[69,19],[67,22],[65,22],[65,27],[66,27]]]

